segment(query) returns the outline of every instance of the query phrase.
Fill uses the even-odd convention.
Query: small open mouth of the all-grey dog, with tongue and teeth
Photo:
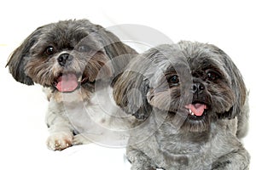
[[[191,118],[201,118],[208,109],[207,105],[203,103],[185,105],[185,108],[189,110],[189,116]]]

